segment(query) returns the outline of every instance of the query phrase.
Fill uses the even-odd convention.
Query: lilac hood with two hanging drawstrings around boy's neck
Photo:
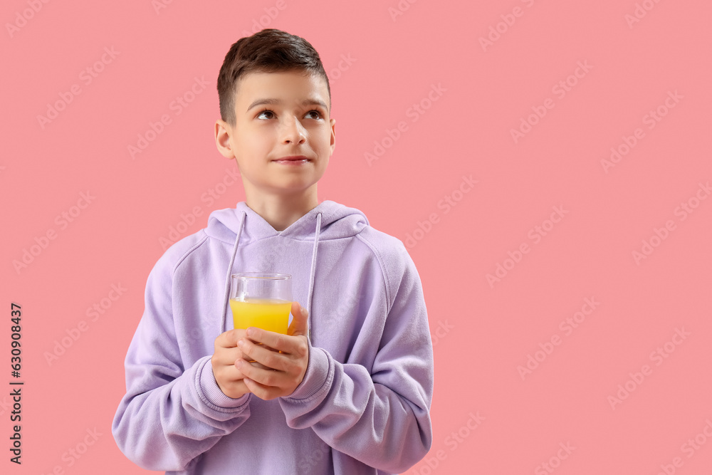
[[[235,256],[240,244],[251,244],[272,236],[283,236],[298,241],[313,241],[311,271],[309,273],[309,294],[307,298],[308,328],[309,335],[311,335],[311,304],[319,241],[355,236],[368,225],[366,215],[358,209],[345,207],[329,200],[318,204],[283,231],[274,229],[271,224],[248,207],[245,202],[239,202],[235,208],[219,209],[212,212],[208,219],[206,234],[233,244],[230,263],[225,276],[223,313],[227,312],[229,305],[230,276],[233,273]],[[226,330],[225,325],[226,323],[223,320],[223,332]]]

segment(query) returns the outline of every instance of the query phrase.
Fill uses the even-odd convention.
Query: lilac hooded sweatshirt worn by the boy
[[[309,363],[288,397],[238,399],[212,372],[233,328],[229,276],[290,273],[309,310]],[[170,474],[390,474],[432,443],[433,352],[422,286],[401,241],[325,201],[284,231],[244,202],[211,213],[146,284],[112,433]]]

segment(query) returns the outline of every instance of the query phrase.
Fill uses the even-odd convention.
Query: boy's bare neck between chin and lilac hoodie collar
[[[246,190],[247,191],[247,190]],[[284,231],[295,221],[317,207],[319,200],[316,187],[299,195],[246,193],[247,206],[272,226],[275,231]]]

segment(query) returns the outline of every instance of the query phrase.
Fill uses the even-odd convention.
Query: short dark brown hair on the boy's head
[[[324,78],[331,103],[329,78],[319,53],[304,38],[275,28],[266,28],[252,36],[240,38],[225,55],[218,75],[220,117],[235,125],[237,81],[244,75],[300,70]]]

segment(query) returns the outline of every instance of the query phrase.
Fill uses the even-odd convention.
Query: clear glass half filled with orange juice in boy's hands
[[[242,272],[231,276],[230,308],[235,328],[262,328],[287,334],[292,307],[292,276]]]

